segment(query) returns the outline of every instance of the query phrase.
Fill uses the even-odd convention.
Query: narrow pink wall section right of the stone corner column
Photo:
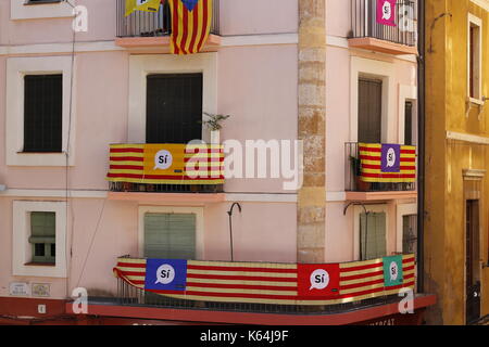
[[[388,141],[385,143],[403,143],[400,137],[401,133],[403,136],[401,112],[406,97],[403,90],[410,90],[411,97],[417,99],[417,62],[414,55],[392,55],[350,47],[351,12],[351,1],[327,0],[325,258],[328,262],[350,261],[359,256],[355,244],[358,216],[353,207],[349,207],[343,215],[347,204],[353,202],[347,200],[344,190],[346,143],[358,141],[358,87],[354,85],[354,74],[361,72],[389,78],[389,94],[383,100],[383,107],[389,107],[389,126],[383,125],[384,129],[388,128]],[[402,230],[398,227],[398,210],[405,205],[416,204],[416,200],[393,197],[356,203],[365,204],[367,210],[380,206],[388,213],[387,254],[402,252],[398,245],[402,236]]]

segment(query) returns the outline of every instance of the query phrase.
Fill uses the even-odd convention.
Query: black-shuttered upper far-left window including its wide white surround
[[[67,164],[75,165],[76,62],[55,55],[7,59],[7,165],[64,167],[68,141]]]

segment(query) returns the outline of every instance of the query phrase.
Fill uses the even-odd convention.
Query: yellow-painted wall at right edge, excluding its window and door
[[[468,13],[482,20],[482,94],[489,97],[489,13],[471,0],[426,0],[425,292],[438,295],[431,324],[465,324],[464,169],[485,169],[481,257],[488,262],[489,145],[447,139],[447,131],[489,138],[489,101],[467,107]],[[446,14],[444,16],[441,16]],[[438,20],[436,20],[438,18]],[[481,316],[489,314],[489,269]]]

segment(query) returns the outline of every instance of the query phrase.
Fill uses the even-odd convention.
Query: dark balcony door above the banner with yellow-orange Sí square
[[[202,138],[202,74],[147,77],[147,143],[188,143]]]

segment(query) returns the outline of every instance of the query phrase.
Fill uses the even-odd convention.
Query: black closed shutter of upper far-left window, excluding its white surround
[[[24,77],[24,152],[62,151],[63,75]]]

